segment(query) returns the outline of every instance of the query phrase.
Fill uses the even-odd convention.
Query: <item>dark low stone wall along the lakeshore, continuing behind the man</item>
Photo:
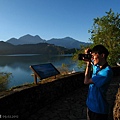
[[[113,71],[115,76],[119,75],[120,67],[114,67]],[[35,110],[83,87],[83,80],[84,73],[74,73],[45,84],[7,91],[0,96],[0,115],[25,119]]]

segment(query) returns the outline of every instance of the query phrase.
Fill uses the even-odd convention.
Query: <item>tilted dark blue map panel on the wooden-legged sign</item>
[[[30,68],[40,79],[60,74],[60,72],[51,63],[31,65]]]

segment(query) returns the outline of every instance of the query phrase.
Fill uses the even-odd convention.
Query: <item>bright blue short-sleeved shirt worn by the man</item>
[[[106,66],[99,71],[99,66],[93,65],[92,81],[93,84],[89,85],[87,107],[100,114],[108,114],[109,105],[106,100],[106,92],[108,90],[113,72],[110,66]],[[99,71],[97,73],[97,71]]]

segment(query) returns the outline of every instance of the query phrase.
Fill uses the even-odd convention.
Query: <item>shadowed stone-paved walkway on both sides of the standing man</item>
[[[111,111],[109,120],[112,120],[112,108],[119,82],[119,77],[114,78],[107,93]],[[28,120],[86,120],[87,91],[87,86],[75,90],[33,113]]]

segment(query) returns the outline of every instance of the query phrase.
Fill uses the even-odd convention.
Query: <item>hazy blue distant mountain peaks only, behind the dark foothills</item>
[[[89,45],[90,43],[85,43],[85,42],[80,42],[78,40],[75,40],[71,37],[65,37],[65,38],[53,38],[50,40],[44,40],[38,35],[32,36],[32,35],[24,35],[20,37],[19,39],[17,38],[11,38],[6,41],[7,43],[10,43],[12,45],[24,45],[24,44],[38,44],[38,43],[49,43],[49,44],[54,44],[56,46],[61,46],[64,48],[72,49],[72,48],[77,48],[80,49],[80,45]]]

